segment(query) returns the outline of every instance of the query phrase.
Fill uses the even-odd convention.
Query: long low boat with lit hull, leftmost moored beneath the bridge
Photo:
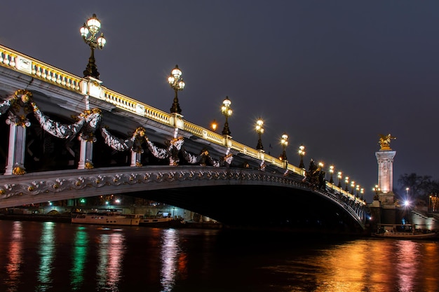
[[[140,223],[140,216],[122,214],[119,209],[93,209],[90,212],[73,212],[72,223],[137,226]]]

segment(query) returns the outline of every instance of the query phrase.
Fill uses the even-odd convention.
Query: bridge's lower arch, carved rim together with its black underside
[[[173,204],[235,226],[327,232],[365,228],[366,210],[344,195],[310,188],[298,177],[257,169],[107,167],[29,173],[13,185],[6,180],[0,178],[0,202],[5,207],[119,193]]]

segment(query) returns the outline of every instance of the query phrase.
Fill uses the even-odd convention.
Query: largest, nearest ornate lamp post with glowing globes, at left
[[[83,41],[85,41],[91,49],[91,55],[88,58],[86,70],[83,71],[84,77],[93,77],[99,79],[99,72],[97,71],[95,64],[95,49],[98,48],[102,50],[102,48],[105,46],[105,43],[107,43],[107,40],[104,38],[104,34],[101,34],[100,37],[96,38],[99,29],[100,21],[97,19],[94,13],[93,16],[87,20],[87,23],[84,23],[81,29],[79,29]]]

